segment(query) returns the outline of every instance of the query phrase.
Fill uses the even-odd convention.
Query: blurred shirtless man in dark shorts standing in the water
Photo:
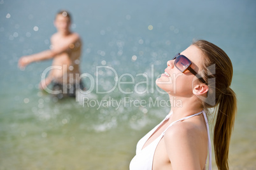
[[[82,41],[80,36],[71,32],[71,16],[68,11],[59,11],[55,16],[54,25],[57,32],[51,37],[52,48],[29,56],[22,56],[18,61],[20,69],[32,62],[53,58],[52,67],[48,77],[43,79],[40,89],[48,89],[53,84],[52,94],[59,98],[63,96],[75,96],[76,89],[84,89],[80,81],[80,55]]]

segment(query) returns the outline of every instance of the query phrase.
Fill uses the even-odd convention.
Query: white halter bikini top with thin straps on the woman
[[[209,131],[209,125],[208,125],[208,119],[206,117],[206,113],[204,112],[204,110],[202,112],[203,112],[203,115],[204,115],[204,120],[206,122],[206,128],[207,128],[207,133],[208,133],[208,150],[209,150],[209,159],[208,159],[209,160],[209,167],[208,167],[208,169],[211,170],[211,138],[210,138],[210,131]],[[202,114],[202,112],[199,112],[199,113],[194,114],[194,115],[189,115],[187,117],[183,117],[183,118],[179,119],[178,121],[172,122],[164,130],[164,132],[162,134],[160,134],[159,137],[157,137],[154,141],[152,141],[152,143],[150,143],[148,146],[143,148],[143,146],[145,145],[148,138],[150,138],[150,136],[152,136],[152,134],[155,132],[155,130],[157,128],[159,128],[159,126],[164,121],[169,119],[170,115],[173,114],[173,112],[168,114],[166,116],[166,118],[162,122],[160,122],[160,124],[155,126],[155,128],[153,128],[149,133],[147,133],[143,138],[141,138],[141,140],[138,141],[138,144],[137,144],[137,147],[136,147],[136,155],[133,157],[133,159],[130,162],[130,170],[152,170],[153,155],[155,154],[155,149],[157,148],[157,145],[158,145],[159,141],[164,136],[164,133],[166,132],[166,130],[169,127],[173,126],[173,124],[175,122],[184,121],[185,119],[189,119],[190,117],[194,117],[195,115]]]

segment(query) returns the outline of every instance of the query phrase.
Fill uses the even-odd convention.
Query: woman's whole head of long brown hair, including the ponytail
[[[209,87],[207,99],[203,101],[204,109],[208,111],[208,108],[215,108],[217,114],[213,134],[216,164],[218,169],[229,169],[229,142],[237,111],[236,94],[230,88],[232,63],[229,56],[211,42],[199,40],[192,45],[204,54],[202,76]]]

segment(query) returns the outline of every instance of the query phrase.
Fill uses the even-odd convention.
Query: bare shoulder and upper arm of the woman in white
[[[176,122],[167,129],[163,140],[172,165],[180,167],[186,162],[185,166],[199,169],[199,162],[205,162],[202,157],[207,157],[208,137],[203,122],[195,119]]]

